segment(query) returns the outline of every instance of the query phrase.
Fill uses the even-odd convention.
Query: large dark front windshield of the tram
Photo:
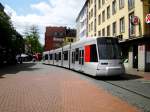
[[[98,38],[99,59],[121,59],[121,50],[115,38]]]

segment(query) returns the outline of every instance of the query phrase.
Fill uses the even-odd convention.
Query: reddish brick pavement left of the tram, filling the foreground
[[[26,63],[0,74],[0,112],[140,111],[63,68]]]

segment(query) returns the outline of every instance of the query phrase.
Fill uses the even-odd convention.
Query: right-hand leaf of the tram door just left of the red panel
[[[83,72],[83,66],[84,65],[84,48],[79,49],[79,66],[80,66],[80,71]]]

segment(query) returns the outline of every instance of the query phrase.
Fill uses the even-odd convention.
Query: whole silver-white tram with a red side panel
[[[48,57],[47,57],[48,56]],[[125,73],[117,38],[86,38],[43,53],[44,63],[62,66],[93,76]]]

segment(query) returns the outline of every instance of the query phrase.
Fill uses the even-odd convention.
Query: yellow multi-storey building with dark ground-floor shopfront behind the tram
[[[150,71],[150,0],[86,2],[88,37],[118,37],[129,68]]]

